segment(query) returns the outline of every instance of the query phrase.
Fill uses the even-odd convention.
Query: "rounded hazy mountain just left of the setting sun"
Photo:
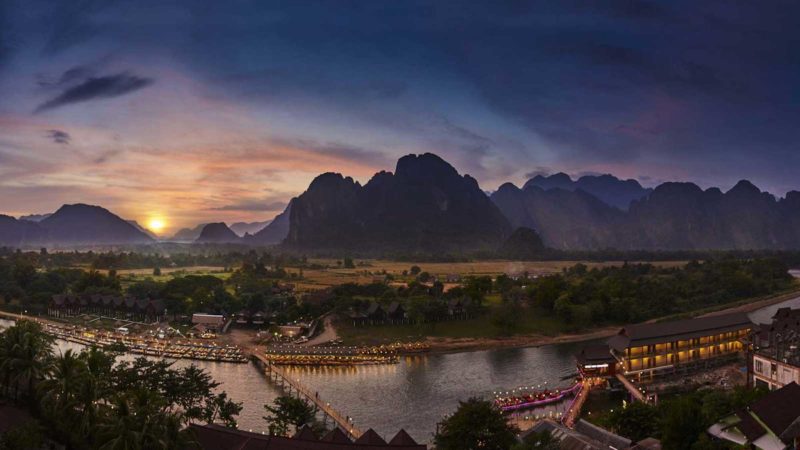
[[[38,224],[54,244],[136,244],[153,239],[99,206],[64,205]]]

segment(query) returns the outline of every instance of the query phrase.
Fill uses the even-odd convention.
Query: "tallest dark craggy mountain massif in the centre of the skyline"
[[[404,156],[395,173],[363,187],[338,173],[318,176],[297,197],[285,243],[360,252],[495,250],[511,228],[469,175],[436,155]]]

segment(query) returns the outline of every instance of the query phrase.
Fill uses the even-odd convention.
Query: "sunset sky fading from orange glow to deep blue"
[[[0,0],[0,213],[162,234],[433,152],[800,189],[800,2]]]

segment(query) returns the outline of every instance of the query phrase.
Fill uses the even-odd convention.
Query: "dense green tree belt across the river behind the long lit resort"
[[[690,262],[682,268],[650,264],[588,269],[529,281],[532,306],[574,328],[639,322],[771,294],[791,285],[785,264],[774,259]]]

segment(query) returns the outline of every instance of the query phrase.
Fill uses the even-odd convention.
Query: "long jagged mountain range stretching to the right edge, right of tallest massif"
[[[582,189],[505,184],[492,201],[515,227],[535,229],[560,249],[797,249],[800,193],[776,200],[748,181],[728,192],[664,183],[620,211]]]

